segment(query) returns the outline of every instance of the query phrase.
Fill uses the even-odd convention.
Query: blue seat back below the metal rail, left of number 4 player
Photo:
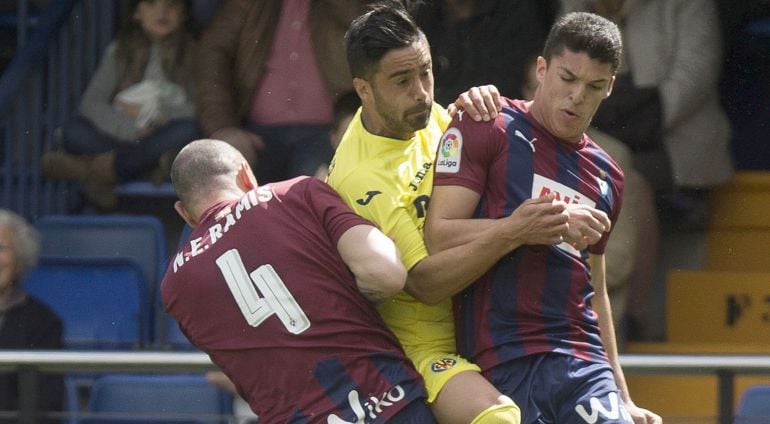
[[[94,423],[226,423],[232,396],[209,384],[202,374],[107,374],[91,388],[88,403]]]

